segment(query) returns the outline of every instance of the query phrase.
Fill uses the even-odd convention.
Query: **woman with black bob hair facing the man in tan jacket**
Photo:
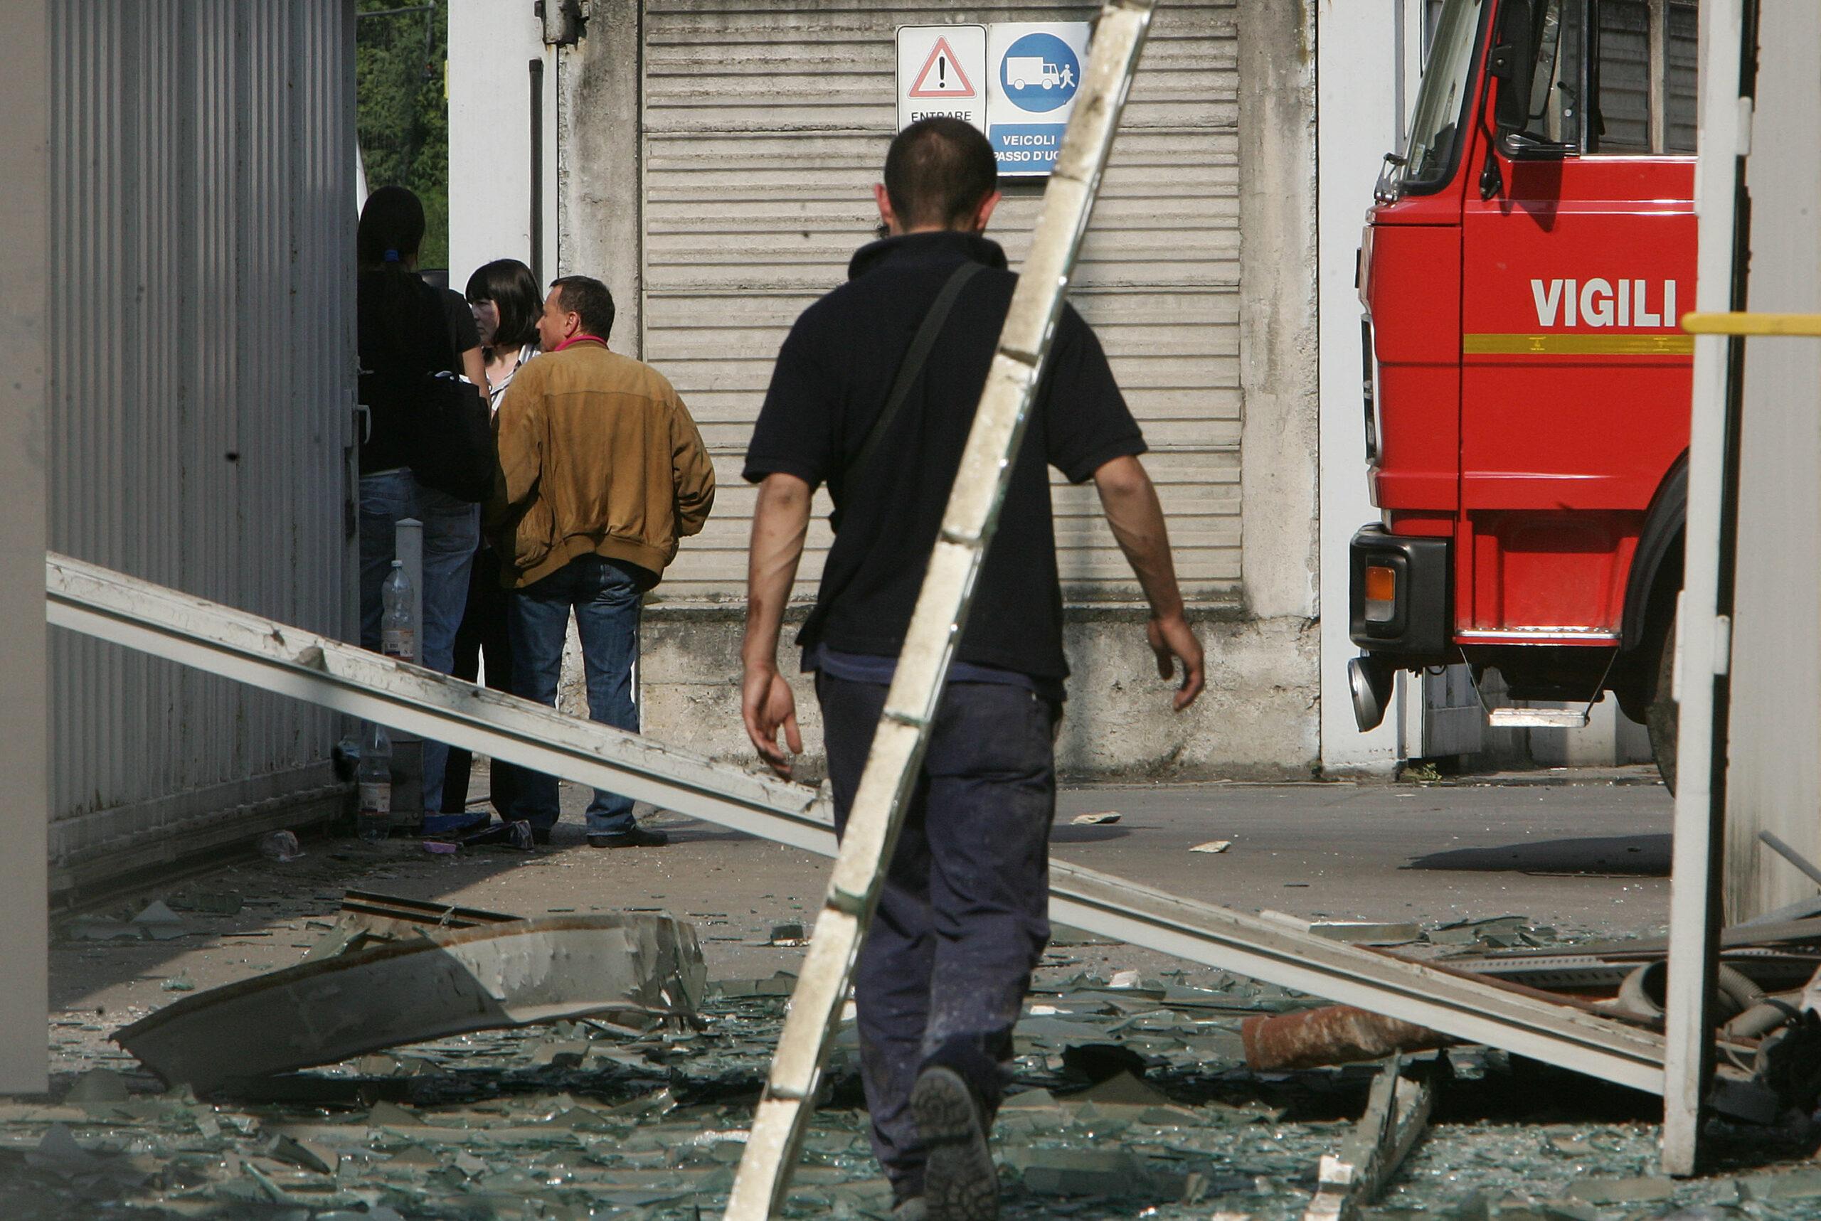
[[[481,333],[481,353],[486,357],[486,388],[499,411],[526,360],[537,355],[537,315],[543,313],[537,277],[517,258],[495,258],[468,277],[468,308]],[[486,684],[495,691],[512,691],[512,639],[506,635],[506,608],[512,593],[499,580],[499,557],[486,542],[473,557],[473,575],[468,579],[468,608],[455,633],[457,679],[473,682],[486,659]],[[472,755],[450,750],[443,781],[441,817],[424,815],[424,826],[443,833],[470,830],[488,821],[483,812],[468,813],[468,772]],[[512,821],[512,799],[517,793],[517,772],[510,762],[493,761],[488,779],[488,802],[499,817]]]

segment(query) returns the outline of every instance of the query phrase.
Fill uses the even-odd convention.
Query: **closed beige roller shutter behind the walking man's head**
[[[659,588],[665,600],[743,595],[756,497],[739,462],[785,331],[839,284],[878,222],[872,184],[896,124],[894,27],[1094,13],[646,5],[645,358],[690,404],[721,479],[714,519]],[[1240,580],[1236,22],[1235,0],[1158,9],[1073,293],[1144,424],[1196,600],[1227,600]],[[1040,189],[1011,186],[992,220],[1014,267]],[[1136,599],[1093,488],[1058,486],[1054,502],[1069,597]],[[823,497],[799,597],[821,571],[827,508]]]

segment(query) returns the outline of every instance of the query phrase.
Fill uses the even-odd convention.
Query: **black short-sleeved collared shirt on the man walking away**
[[[903,409],[849,488],[847,464],[885,406],[931,302],[963,260],[987,271],[961,291]],[[829,484],[834,497],[839,528],[816,613],[798,642],[890,657],[903,646],[1018,277],[998,244],[971,233],[874,242],[854,255],[849,277],[785,338],[745,475],[752,482],[796,475],[810,488]],[[1100,340],[1065,306],[958,661],[1040,679],[1069,673],[1045,468],[1082,482],[1144,448]]]

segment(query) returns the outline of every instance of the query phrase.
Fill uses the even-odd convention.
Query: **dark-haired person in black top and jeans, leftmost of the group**
[[[355,237],[361,402],[361,646],[379,650],[381,586],[392,571],[399,520],[424,524],[424,622],[419,664],[450,671],[468,571],[481,542],[481,506],[426,488],[412,475],[417,400],[426,375],[464,375],[484,395],[481,338],[463,300],[417,275],[424,206],[404,187],[373,191]],[[450,302],[455,309],[450,309]],[[448,746],[424,742],[424,810],[443,808]]]

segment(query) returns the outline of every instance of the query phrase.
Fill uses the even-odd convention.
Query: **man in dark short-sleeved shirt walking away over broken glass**
[[[781,773],[801,733],[778,671],[778,635],[809,528],[829,484],[836,537],[798,644],[816,671],[836,826],[845,828],[923,570],[960,466],[1016,277],[980,233],[998,204],[992,149],[974,127],[931,118],[892,142],[876,187],[889,237],[861,247],[849,282],[798,318],[778,353],[747,451],[759,484],[747,590],[743,713]],[[932,302],[963,278],[909,397],[872,437]],[[1184,619],[1138,431],[1094,333],[1056,324],[998,533],[949,670],[929,753],[878,917],[860,955],[861,1072],[872,1145],[905,1216],[992,1217],[985,1132],[1007,1079],[1012,1026],[1049,943],[1049,824],[1062,713],[1062,588],[1049,471],[1093,479],[1151,602],[1158,673],[1184,668],[1175,706],[1202,690],[1202,646]]]

